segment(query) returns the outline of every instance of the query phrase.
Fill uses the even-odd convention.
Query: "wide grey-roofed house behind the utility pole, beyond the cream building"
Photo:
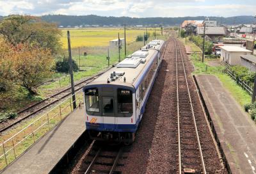
[[[204,36],[204,27],[198,27],[196,29],[196,34]],[[223,37],[226,36],[224,27],[206,27],[205,36],[209,37],[211,41],[220,41],[223,40]]]

